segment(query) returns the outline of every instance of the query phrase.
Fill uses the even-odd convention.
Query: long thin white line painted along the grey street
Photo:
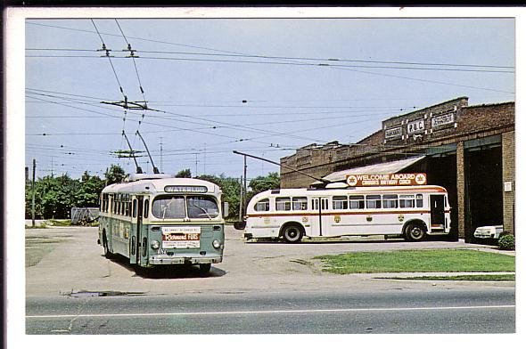
[[[419,308],[348,308],[348,309],[297,309],[297,310],[260,310],[237,312],[136,312],[136,313],[99,313],[99,314],[54,314],[54,315],[26,315],[26,319],[53,318],[122,318],[122,317],[161,317],[161,316],[207,316],[207,315],[258,315],[258,314],[286,314],[286,313],[314,313],[314,312],[402,312],[402,311],[430,311],[430,310],[484,310],[514,308],[515,305],[473,305],[473,306],[429,306]]]

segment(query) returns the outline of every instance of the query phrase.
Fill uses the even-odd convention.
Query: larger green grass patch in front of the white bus
[[[472,249],[355,252],[317,256],[324,272],[514,272],[515,257]]]

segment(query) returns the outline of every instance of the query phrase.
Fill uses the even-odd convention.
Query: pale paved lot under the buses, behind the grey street
[[[97,228],[63,227],[27,229],[27,247],[36,241],[46,243],[39,262],[26,268],[27,296],[57,296],[71,291],[144,292],[171,295],[195,292],[236,293],[251,290],[320,290],[353,288],[382,290],[393,288],[463,288],[473,283],[462,281],[423,282],[376,280],[370,274],[333,275],[321,272],[313,256],[350,251],[378,251],[407,248],[482,248],[464,241],[341,239],[290,245],[280,242],[245,242],[242,231],[228,227],[224,262],[213,264],[210,276],[176,268],[153,278],[138,275],[124,260],[107,260],[96,244]],[[28,243],[31,241],[31,244]],[[27,248],[27,253],[33,253]],[[487,287],[510,286],[507,282],[483,282]]]

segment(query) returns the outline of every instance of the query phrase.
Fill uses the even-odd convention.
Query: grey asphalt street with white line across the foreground
[[[266,292],[27,300],[28,334],[513,333],[513,290]]]

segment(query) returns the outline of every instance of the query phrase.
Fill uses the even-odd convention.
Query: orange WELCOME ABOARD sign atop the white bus
[[[423,185],[427,183],[427,176],[425,174],[346,175],[345,180],[350,187]]]

